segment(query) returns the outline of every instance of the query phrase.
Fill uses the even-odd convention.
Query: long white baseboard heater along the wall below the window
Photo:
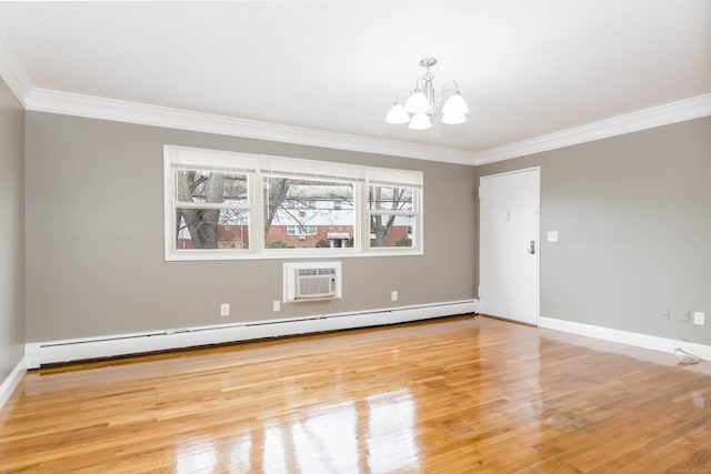
[[[314,315],[296,320],[252,321],[214,326],[183,327],[146,333],[112,334],[63,341],[27,343],[27,369],[42,364],[110,357],[171,349],[221,344],[254,339],[307,334],[323,331],[378,326],[428,320],[454,314],[475,313],[478,300],[402,306],[358,313]]]

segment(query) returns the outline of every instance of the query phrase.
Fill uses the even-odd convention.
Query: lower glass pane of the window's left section
[[[176,249],[249,249],[249,211],[178,209]]]

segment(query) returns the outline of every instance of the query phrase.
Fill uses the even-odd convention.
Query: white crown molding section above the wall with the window
[[[37,88],[27,98],[26,108],[33,111],[91,119],[469,165],[473,164],[475,155],[473,152],[463,150],[259,122],[234,117]]]

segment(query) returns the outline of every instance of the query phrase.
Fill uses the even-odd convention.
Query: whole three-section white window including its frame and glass
[[[422,173],[164,147],[167,260],[422,253]]]

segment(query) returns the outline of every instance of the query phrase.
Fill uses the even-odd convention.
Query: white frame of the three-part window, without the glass
[[[176,170],[214,170],[248,175],[249,203],[239,204],[249,211],[249,249],[176,249],[176,209],[182,204],[176,198]],[[266,249],[263,180],[266,177],[294,177],[353,184],[353,246],[320,249]],[[370,246],[370,212],[368,186],[412,188],[414,246]],[[227,206],[226,206],[227,208]],[[392,214],[393,211],[384,212]],[[351,256],[422,255],[423,250],[423,173],[413,170],[363,167],[328,161],[303,160],[251,153],[163,147],[163,241],[167,261],[192,260],[261,260],[261,259],[333,259]]]

